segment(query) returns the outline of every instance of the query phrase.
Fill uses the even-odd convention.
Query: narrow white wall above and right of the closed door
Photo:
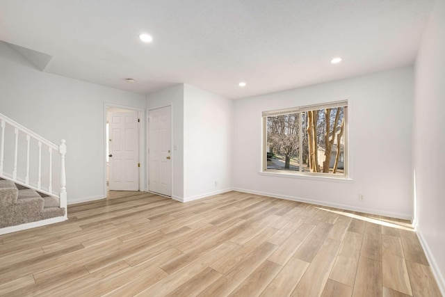
[[[172,198],[184,198],[184,85],[147,95],[147,109],[172,105]],[[148,173],[148,172],[147,172]]]

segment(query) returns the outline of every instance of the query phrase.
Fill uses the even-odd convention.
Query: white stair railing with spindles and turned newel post
[[[12,177],[14,182],[17,182],[17,184],[22,184],[24,186],[27,186],[29,188],[35,188],[36,190],[40,191],[41,193],[45,193],[45,194],[49,194],[49,195],[53,195],[56,196],[60,199],[60,207],[65,207],[65,218],[67,218],[67,211],[66,211],[66,207],[67,207],[67,191],[66,191],[66,173],[65,173],[65,154],[67,152],[67,147],[65,144],[65,140],[62,139],[60,141],[60,145],[56,145],[55,143],[52,143],[51,141],[48,141],[47,139],[43,138],[42,136],[36,134],[35,132],[31,131],[30,129],[23,127],[22,125],[20,125],[19,123],[15,122],[14,120],[11,120],[10,118],[8,118],[6,115],[3,115],[0,113],[0,133],[1,133],[1,138],[0,138],[0,175],[2,175],[3,177],[6,177],[6,172],[4,172],[5,170],[5,163],[4,163],[4,154],[5,154],[5,130],[7,125],[9,125],[10,127],[13,127],[14,129],[14,143],[15,143],[15,147],[13,147],[14,152],[13,152],[13,156],[11,156],[11,158],[13,158],[13,172],[12,175],[10,173],[8,173],[8,175],[10,175],[10,177]],[[9,129],[9,128],[8,128]],[[17,178],[17,158],[19,157],[18,152],[19,152],[19,148],[18,148],[18,136],[19,134],[24,134],[26,136],[26,148],[24,149],[25,151],[25,156],[24,158],[26,158],[26,176],[24,177],[24,180],[20,181]],[[35,141],[37,141],[37,145],[38,145],[38,168],[36,168],[38,170],[37,172],[37,181],[36,181],[36,186],[33,186],[32,184],[30,184],[30,177],[29,177],[29,164],[30,164],[30,141],[31,138],[35,139]],[[48,147],[48,152],[49,152],[49,176],[48,176],[48,191],[45,191],[42,188],[42,145],[46,145]],[[53,193],[52,191],[52,172],[54,169],[54,163],[52,162],[52,151],[56,150],[56,152],[58,152],[58,154],[60,155],[60,190],[58,192],[58,194]],[[45,167],[46,168],[46,167]],[[46,184],[45,184],[46,186]]]

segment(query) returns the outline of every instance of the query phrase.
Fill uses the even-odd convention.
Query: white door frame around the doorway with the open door
[[[139,163],[140,163],[140,168],[139,168],[139,191],[145,191],[144,189],[147,188],[146,183],[145,183],[145,141],[144,141],[144,136],[145,136],[145,109],[139,109],[138,107],[134,107],[134,106],[127,106],[127,105],[122,105],[122,104],[115,104],[115,103],[111,103],[111,102],[104,102],[104,114],[103,114],[103,122],[104,122],[104,152],[103,152],[103,156],[104,156],[104,198],[107,197],[106,195],[106,142],[108,141],[108,135],[106,134],[106,115],[107,115],[107,108],[108,107],[115,107],[117,109],[128,109],[130,111],[137,111],[138,112],[138,118],[140,120],[139,125],[138,125],[138,142],[139,142]]]

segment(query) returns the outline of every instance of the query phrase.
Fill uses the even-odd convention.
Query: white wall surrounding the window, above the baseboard
[[[261,170],[261,111],[348,99],[350,178],[271,177]],[[234,102],[234,188],[345,209],[411,218],[413,69]],[[365,201],[358,200],[359,193]]]

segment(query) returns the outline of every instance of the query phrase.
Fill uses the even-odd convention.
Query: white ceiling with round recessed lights
[[[52,56],[44,72],[140,94],[188,83],[237,99],[411,65],[433,4],[1,0],[0,40]]]

